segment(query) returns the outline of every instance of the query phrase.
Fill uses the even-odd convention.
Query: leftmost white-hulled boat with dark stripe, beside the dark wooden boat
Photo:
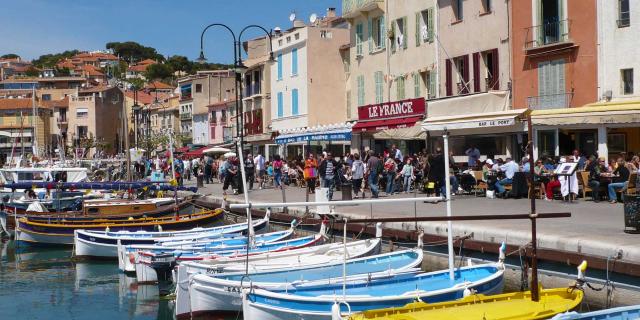
[[[269,215],[252,223],[255,230],[268,226]],[[172,232],[106,232],[75,230],[74,252],[81,257],[112,257],[118,258],[120,270],[125,271],[125,257],[118,255],[118,243],[121,245],[155,244],[158,241],[182,241],[185,239],[213,239],[224,234],[245,232],[247,223],[237,223],[211,228],[194,228]],[[128,258],[128,257],[126,257]]]

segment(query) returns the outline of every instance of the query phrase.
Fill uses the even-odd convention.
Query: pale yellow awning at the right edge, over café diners
[[[543,126],[640,123],[640,101],[598,102],[579,108],[534,110],[531,122]]]

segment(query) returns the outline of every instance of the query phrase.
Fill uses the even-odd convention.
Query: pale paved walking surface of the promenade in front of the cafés
[[[193,181],[191,183],[194,183]],[[189,183],[190,184],[190,183]],[[199,193],[210,201],[220,201],[223,197],[222,184],[205,185]],[[286,187],[288,202],[305,201],[305,189]],[[413,194],[397,194],[384,198],[413,197]],[[418,193],[418,196],[425,196]],[[282,202],[279,189],[266,188],[249,191],[251,202]],[[310,199],[314,199],[313,195]],[[341,199],[341,192],[334,193],[334,200]],[[243,195],[228,195],[229,202],[244,202]],[[311,200],[313,201],[313,200]],[[565,252],[581,253],[588,256],[610,257],[619,253],[622,259],[640,264],[640,235],[627,234],[624,229],[623,205],[608,202],[594,203],[578,199],[572,203],[562,201],[536,200],[538,213],[570,212],[570,218],[539,219],[537,225],[538,245],[540,248]],[[474,195],[456,195],[452,199],[453,215],[483,214],[526,214],[530,212],[529,199],[488,199]],[[313,211],[313,208],[310,207]],[[292,211],[294,211],[292,213]],[[403,217],[403,216],[444,216],[446,205],[440,203],[394,203],[375,205],[354,205],[336,207],[335,211],[349,217]],[[291,210],[290,214],[303,214],[301,210]],[[447,222],[420,222],[426,234],[446,236]],[[385,228],[413,230],[415,224],[387,223]],[[479,241],[509,245],[524,245],[531,239],[531,224],[528,220],[492,220],[492,221],[455,221],[453,234],[473,233]]]

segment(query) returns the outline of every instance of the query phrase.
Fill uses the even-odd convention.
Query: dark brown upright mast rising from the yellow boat
[[[536,236],[536,197],[534,197],[534,160],[533,160],[533,125],[531,124],[531,114],[527,117],[528,129],[528,152],[529,152],[529,198],[531,199],[531,300],[539,301],[540,295],[538,291],[538,239]]]

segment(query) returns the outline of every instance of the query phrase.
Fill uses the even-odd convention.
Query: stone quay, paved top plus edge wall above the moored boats
[[[305,201],[305,189],[286,187],[288,202]],[[229,203],[244,203],[243,195],[223,196],[222,185],[207,184],[200,189],[206,196],[198,200],[203,206],[219,206],[226,197]],[[414,194],[397,194],[391,197],[413,197]],[[418,194],[417,196],[423,196]],[[282,192],[275,188],[254,189],[249,192],[252,202],[283,202]],[[314,195],[310,195],[312,201]],[[334,199],[340,200],[340,192],[334,193]],[[528,199],[488,199],[474,195],[457,195],[452,199],[453,215],[486,215],[486,214],[524,214],[528,212]],[[538,257],[543,261],[556,262],[571,266],[580,264],[582,260],[589,262],[590,269],[608,270],[610,272],[640,276],[640,248],[638,235],[623,232],[622,204],[606,202],[593,203],[583,199],[572,203],[536,200],[538,213],[570,212],[570,218],[539,219],[538,220]],[[235,210],[244,214],[244,210]],[[304,223],[319,222],[315,215],[315,208],[309,207],[309,214],[305,208],[289,208],[287,214],[281,208],[275,208],[272,219],[289,223],[292,219],[304,219]],[[352,207],[336,207],[334,212],[350,218],[381,218],[444,216],[445,203],[395,203],[377,205],[354,205]],[[255,216],[264,213],[252,210]],[[446,239],[446,222],[404,222],[385,223],[384,236],[398,242],[416,241],[416,226],[423,228],[425,242],[436,242]],[[337,230],[342,226],[337,224]],[[348,231],[354,234],[360,232],[374,234],[374,227],[351,224]],[[512,252],[531,240],[531,224],[527,220],[493,220],[493,221],[455,221],[453,224],[454,237],[467,236],[465,250],[497,253],[501,242]]]

